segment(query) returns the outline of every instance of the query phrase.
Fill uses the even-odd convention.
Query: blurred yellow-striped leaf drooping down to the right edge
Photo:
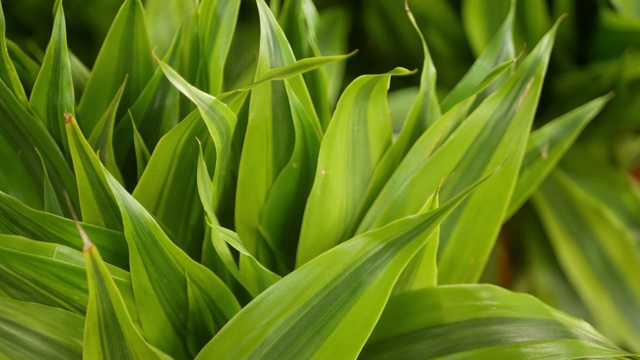
[[[596,323],[640,351],[637,240],[615,208],[592,192],[556,169],[533,200],[562,268]]]

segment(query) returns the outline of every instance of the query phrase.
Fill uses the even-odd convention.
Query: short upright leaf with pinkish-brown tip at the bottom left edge
[[[89,283],[83,358],[170,359],[149,345],[136,329],[98,249],[88,242],[83,252]]]

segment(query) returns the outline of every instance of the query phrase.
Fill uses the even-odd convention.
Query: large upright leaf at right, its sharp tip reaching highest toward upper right
[[[442,201],[488,169],[503,164],[441,227],[439,283],[477,281],[515,186],[555,29],[536,46],[516,73],[485,99],[433,154],[428,152],[431,155],[425,158],[419,150],[408,153],[367,212],[359,231],[415,214],[430,196],[431,189],[452,173],[458,176],[445,180],[440,192]],[[425,138],[427,134],[429,130]],[[435,134],[430,136],[439,141]],[[471,238],[476,240],[469,241]]]

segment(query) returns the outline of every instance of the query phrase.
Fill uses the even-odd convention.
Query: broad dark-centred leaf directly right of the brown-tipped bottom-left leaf
[[[193,357],[196,354],[189,351],[193,347],[187,347],[187,339],[196,335],[199,339],[210,339],[214,335],[211,330],[218,331],[240,306],[215,274],[174,245],[147,210],[103,171],[122,213],[129,244],[131,283],[144,337],[173,357]],[[190,310],[189,286],[191,293],[197,292],[204,299],[205,313],[194,314]],[[214,323],[189,327],[194,319],[187,314],[211,316]],[[199,343],[196,347],[203,345]]]

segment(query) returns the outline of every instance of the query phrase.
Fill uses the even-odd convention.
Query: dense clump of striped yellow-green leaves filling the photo
[[[516,56],[520,4],[491,28],[475,3],[455,85],[436,85],[438,42],[405,3],[420,76],[344,89],[344,12],[311,0],[124,0],[91,70],[62,1],[40,55],[0,7],[0,358],[639,358],[636,185],[616,169],[622,192],[607,186],[593,144],[611,138],[556,169],[611,95],[534,127],[563,25]],[[558,288],[607,337],[478,283],[531,196],[538,215],[508,223],[529,274],[562,275],[536,275],[557,266],[541,220]]]

